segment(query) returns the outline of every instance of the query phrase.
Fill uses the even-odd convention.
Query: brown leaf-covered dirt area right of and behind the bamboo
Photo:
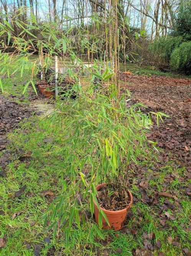
[[[128,105],[141,102],[148,106],[142,109],[144,112],[170,115],[159,127],[154,124],[149,139],[158,141],[158,146],[164,149],[161,161],[176,159],[191,172],[191,79],[124,73],[120,79],[126,81],[123,89],[132,92]]]

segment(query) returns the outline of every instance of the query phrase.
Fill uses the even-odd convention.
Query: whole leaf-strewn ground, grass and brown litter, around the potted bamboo
[[[164,151],[131,166],[129,182],[134,202],[122,231],[101,231],[102,238],[94,233],[94,239],[90,239],[94,219],[88,205],[85,208],[90,217],[87,221],[81,212],[81,229],[73,226],[68,246],[62,228],[54,239],[43,228],[40,218],[61,190],[63,147],[71,132],[65,128],[70,115],[63,115],[62,122],[57,116],[54,121],[51,117],[31,116],[8,135],[10,142],[0,151],[0,158],[7,152],[11,157],[11,162],[0,167],[0,255],[190,255],[191,192],[186,148],[190,137],[185,121],[189,120],[190,81],[164,79],[171,82],[164,85],[161,81],[166,80],[161,77],[126,77],[125,88],[132,91],[128,104],[139,101],[170,118],[159,128],[154,126],[150,135],[150,140],[158,141]],[[13,94],[15,83],[20,91],[23,88],[19,78],[9,79],[7,96]],[[23,104],[20,91],[15,97]],[[63,105],[61,111],[70,112],[69,105]]]

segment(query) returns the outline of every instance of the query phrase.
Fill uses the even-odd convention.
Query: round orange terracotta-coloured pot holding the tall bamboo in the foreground
[[[96,187],[97,191],[99,191],[101,189],[102,186],[104,186],[105,184],[100,184]],[[102,219],[102,228],[103,229],[114,229],[114,230],[120,230],[123,227],[123,224],[125,222],[126,216],[127,216],[127,212],[130,210],[132,203],[133,203],[133,196],[131,194],[131,192],[129,190],[127,190],[129,197],[130,197],[130,204],[122,209],[122,210],[118,210],[118,211],[110,211],[110,210],[106,210],[102,207],[100,207],[101,210],[103,210],[105,212],[105,215],[107,216],[107,219],[109,221],[110,226],[107,225],[105,219]],[[95,208],[95,218],[96,218],[96,222],[99,223],[98,218],[99,218],[99,210],[97,208],[96,203],[94,202],[94,208]]]

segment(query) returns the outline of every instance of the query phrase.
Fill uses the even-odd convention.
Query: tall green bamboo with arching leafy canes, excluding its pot
[[[130,93],[127,91],[122,95],[120,92],[121,45],[118,4],[117,0],[110,0],[107,4],[105,2],[108,12],[105,12],[104,18],[98,19],[95,12],[89,18],[87,26],[84,26],[84,30],[75,28],[77,34],[83,38],[78,41],[78,45],[73,35],[73,28],[60,29],[56,21],[51,25],[45,22],[40,24],[37,23],[35,16],[31,15],[25,23],[15,15],[10,22],[5,22],[6,25],[0,23],[2,29],[0,35],[6,34],[8,38],[7,44],[2,44],[0,49],[2,91],[3,76],[20,72],[22,77],[25,70],[31,70],[31,77],[23,88],[23,94],[30,85],[37,93],[36,75],[40,69],[43,69],[44,73],[47,72],[54,55],[69,60],[72,65],[67,75],[76,80],[71,90],[79,93],[74,101],[70,99],[69,94],[68,97],[66,94],[66,101],[70,104],[72,114],[67,129],[72,127],[73,132],[66,139],[66,146],[63,148],[68,157],[64,159],[61,171],[63,179],[60,184],[60,194],[42,216],[44,227],[47,228],[48,221],[50,223],[47,231],[53,230],[56,236],[59,229],[64,230],[67,242],[74,224],[80,228],[81,223],[89,221],[86,212],[82,219],[80,218],[82,209],[87,207],[87,201],[91,215],[94,213],[93,201],[99,207],[96,185],[105,182],[110,190],[109,194],[113,192],[112,186],[119,189],[120,195],[125,194],[130,163],[137,163],[141,156],[146,155],[145,150],[149,149],[145,133],[152,125],[150,116],[140,111],[139,104],[127,108],[126,100],[130,97]],[[15,26],[21,31],[19,36],[14,33]],[[104,29],[104,44],[103,37],[89,33],[89,27],[95,31],[97,26],[102,26]],[[87,67],[91,82],[85,89],[79,85],[74,71],[79,65],[83,68],[80,55],[82,52],[87,54],[88,63],[94,63],[94,71]],[[40,61],[42,56],[43,61]],[[96,57],[99,57],[101,68],[94,60]],[[18,65],[11,73],[12,61]],[[96,86],[95,77],[98,79]],[[63,106],[64,103],[61,105]],[[159,119],[163,113],[157,115]],[[153,146],[155,147],[154,143]],[[100,227],[102,218],[107,219],[104,212],[100,211]],[[90,237],[94,231],[102,236],[96,224],[92,222]]]

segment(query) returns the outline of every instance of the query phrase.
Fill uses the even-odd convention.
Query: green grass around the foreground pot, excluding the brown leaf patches
[[[20,77],[6,79],[4,81],[5,95],[14,94],[15,100],[21,102],[18,96],[23,89],[22,80]],[[13,85],[15,83],[19,84],[16,91]],[[27,95],[22,103],[29,103]],[[61,112],[70,112],[69,104],[66,105],[64,102],[61,105],[58,104],[58,108]],[[9,134],[11,143],[7,149],[13,152],[14,160],[7,166],[7,177],[0,176],[0,211],[4,212],[0,216],[0,237],[7,238],[6,246],[0,249],[0,255],[32,256],[35,246],[40,244],[43,256],[96,256],[98,253],[110,256],[131,256],[133,249],[139,248],[144,251],[143,234],[151,232],[155,234],[152,240],[153,245],[157,240],[161,242],[161,248],[152,252],[155,256],[158,255],[158,251],[163,252],[165,256],[178,256],[181,255],[183,248],[191,249],[189,244],[191,234],[184,228],[189,226],[191,202],[179,191],[179,187],[184,188],[189,181],[181,183],[178,181],[177,177],[184,176],[185,169],[172,167],[171,162],[166,163],[166,166],[157,171],[153,171],[152,163],[149,163],[149,168],[145,172],[146,179],[147,176],[155,174],[149,181],[151,196],[155,191],[161,191],[164,186],[169,191],[174,189],[178,194],[181,209],[176,211],[175,221],[170,219],[167,221],[167,226],[161,226],[160,210],[157,206],[150,207],[142,202],[138,185],[134,184],[131,191],[133,196],[138,197],[138,202],[133,204],[133,216],[128,220],[127,232],[101,230],[100,233],[104,239],[101,239],[96,231],[91,237],[90,229],[94,218],[89,217],[87,221],[83,212],[80,214],[81,228],[78,229],[76,225],[72,226],[68,244],[62,227],[59,228],[55,238],[51,231],[46,231],[48,226],[43,228],[43,221],[40,218],[53,198],[58,196],[62,190],[62,174],[64,174],[67,157],[64,148],[67,145],[67,138],[74,131],[74,127],[66,129],[71,120],[72,113],[47,118],[34,116]],[[31,152],[29,161],[20,161],[19,157],[28,152]],[[83,156],[83,149],[79,153]],[[144,164],[148,163],[144,162]],[[168,185],[164,184],[166,174],[172,172],[177,177]],[[18,191],[21,186],[26,186],[25,191],[20,197],[13,198],[15,191]],[[52,194],[44,196],[42,193],[44,190],[51,191],[54,196]],[[164,200],[165,198],[160,198],[161,206]],[[170,201],[174,204],[174,199]],[[178,210],[178,206],[175,207]],[[84,208],[90,216],[89,205],[86,202],[84,202]],[[171,210],[168,209],[168,211],[171,214]],[[13,218],[16,212],[18,216]],[[136,234],[132,234],[133,229],[136,229]],[[51,242],[49,246],[44,242],[44,238],[47,237]],[[173,240],[178,238],[180,246],[170,243],[168,237],[172,237]]]

